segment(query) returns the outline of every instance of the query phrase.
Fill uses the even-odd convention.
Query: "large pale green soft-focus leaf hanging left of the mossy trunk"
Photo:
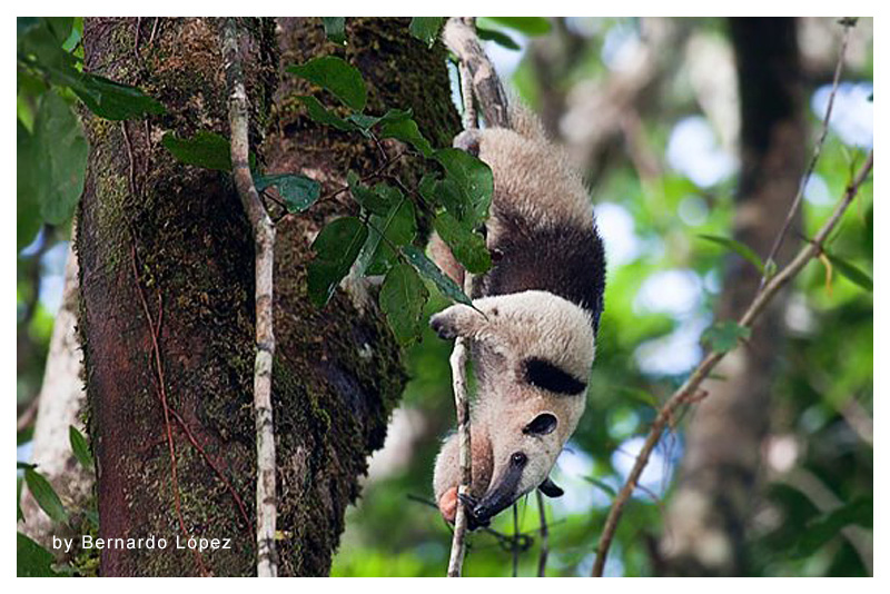
[[[40,99],[34,118],[33,171],[43,220],[60,225],[71,218],[83,190],[87,139],[73,110],[55,92]]]

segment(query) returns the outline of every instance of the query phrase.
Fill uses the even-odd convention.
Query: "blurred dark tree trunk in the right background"
[[[805,122],[794,19],[730,19],[741,96],[741,175],[733,237],[764,257],[803,175]],[[794,230],[777,261],[799,241]],[[739,319],[760,273],[736,256],[723,278],[718,320]],[[669,574],[740,575],[748,571],[745,525],[756,501],[762,440],[782,358],[785,298],[780,294],[708,380],[686,430],[678,488],[668,508],[662,553]]]

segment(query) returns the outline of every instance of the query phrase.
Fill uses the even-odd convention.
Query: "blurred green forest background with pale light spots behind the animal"
[[[657,403],[701,359],[701,335],[724,288],[730,256],[700,235],[731,236],[740,208],[733,46],[725,19],[565,18],[525,32],[481,24],[508,36],[487,41],[486,51],[511,91],[582,166],[605,240],[605,314],[587,409],[553,473],[565,495],[546,502],[547,575],[590,575],[614,494]],[[842,33],[835,19],[797,20],[808,160]],[[871,19],[851,30],[843,68],[822,156],[804,189],[802,230],[788,239],[794,246],[827,218],[872,146]],[[26,127],[33,119],[27,95],[20,86]],[[21,210],[18,217],[18,459],[28,462],[70,222],[41,226]],[[872,220],[869,185],[832,244],[868,274]],[[775,375],[768,436],[745,519],[752,575],[872,573],[871,531],[831,516],[872,494],[872,295],[840,273],[811,263],[779,318],[784,338],[769,354]],[[433,293],[427,314],[445,306]],[[454,426],[449,350],[427,330],[408,353],[411,383],[362,498],[347,512],[334,575],[443,574],[451,533],[431,505],[431,482],[441,439]],[[643,474],[606,575],[657,573],[691,415],[676,419]],[[512,539],[516,527],[525,536]],[[512,575],[515,561],[520,575],[534,575],[542,543],[534,497],[518,504],[515,525],[505,512],[492,528],[497,534],[471,536],[464,574]]]

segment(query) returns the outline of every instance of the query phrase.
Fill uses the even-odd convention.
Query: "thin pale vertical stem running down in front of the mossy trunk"
[[[257,194],[248,164],[249,116],[239,48],[238,22],[226,19],[222,27],[222,56],[229,90],[231,166],[235,187],[254,231],[255,303],[257,356],[254,366],[254,412],[257,438],[257,575],[278,575],[275,548],[275,429],[271,412],[271,365],[275,355],[273,333],[273,267],[275,226]]]

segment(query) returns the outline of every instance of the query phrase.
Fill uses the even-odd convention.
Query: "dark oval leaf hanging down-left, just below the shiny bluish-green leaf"
[[[325,226],[313,241],[315,259],[309,263],[308,291],[313,303],[324,307],[358,257],[368,228],[356,217],[343,217]]]

